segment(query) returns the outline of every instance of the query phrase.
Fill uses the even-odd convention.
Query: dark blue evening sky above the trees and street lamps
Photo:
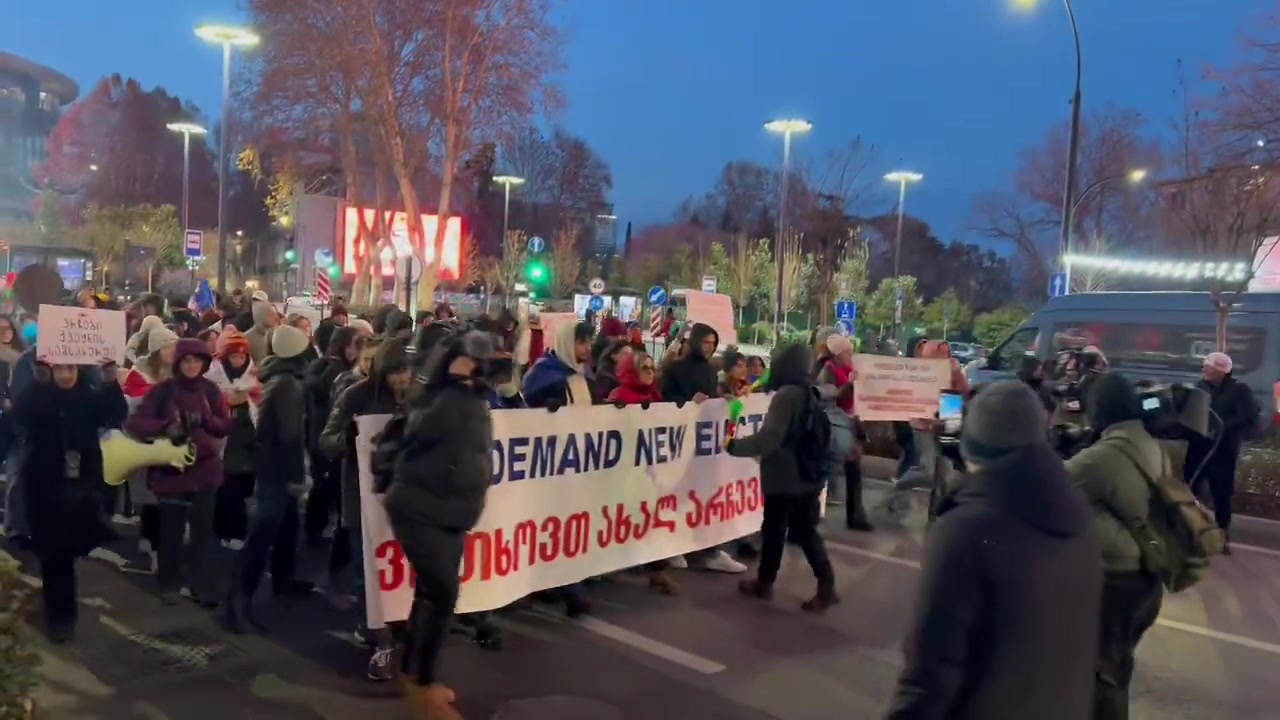
[[[219,53],[191,32],[234,22],[234,0],[14,1],[0,50],[83,86],[109,72],[189,97],[219,99]],[[1268,0],[1076,0],[1084,106],[1176,117],[1174,61],[1226,64]],[[128,12],[124,12],[124,8]],[[790,8],[799,9],[790,9]],[[787,9],[783,9],[787,8]],[[1009,184],[1018,154],[1068,117],[1070,31],[1060,1],[566,0],[570,32],[558,122],[611,163],[622,220],[664,222],[731,159],[776,163],[760,124],[812,120],[796,152],[854,135],[881,147],[877,173],[924,173],[908,209],[964,237],[974,197]],[[891,188],[863,211],[888,209]]]

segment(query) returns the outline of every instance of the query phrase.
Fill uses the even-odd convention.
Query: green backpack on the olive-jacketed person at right
[[[1133,448],[1120,448],[1125,445]],[[1152,477],[1138,461],[1138,448],[1129,442],[1117,443],[1151,488],[1147,521],[1121,519],[1142,552],[1143,569],[1160,578],[1169,592],[1181,592],[1201,580],[1210,559],[1221,555],[1226,536],[1213,515],[1196,498],[1192,488],[1172,474],[1169,455],[1161,451],[1158,477]]]

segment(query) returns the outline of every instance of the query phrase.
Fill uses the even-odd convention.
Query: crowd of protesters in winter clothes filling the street
[[[76,302],[106,305],[92,295]],[[676,570],[745,574],[746,561],[758,560],[739,591],[768,600],[792,543],[817,583],[801,609],[824,612],[840,596],[818,532],[823,491],[828,509],[844,507],[849,529],[867,532],[872,520],[900,523],[911,488],[952,475],[938,456],[938,424],[906,423],[897,482],[868,512],[854,345],[833,332],[774,348],[765,364],[722,348],[700,323],[664,325],[666,348],[655,357],[639,327],[617,318],[559,324],[543,337],[536,323],[507,310],[461,322],[445,305],[417,318],[394,306],[356,316],[334,305],[315,327],[307,316],[283,315],[262,293],[236,292],[201,314],[168,310],[157,296],[123,310],[123,366],[45,364],[27,331],[33,323],[0,316],[6,533],[38,559],[49,637],[68,642],[74,634],[76,559],[119,539],[102,518],[136,518],[160,603],[186,597],[230,632],[265,633],[256,605],[268,571],[276,597],[319,591],[351,614],[369,647],[369,679],[398,675],[425,717],[457,717],[438,673],[452,629],[466,628],[485,648],[503,644],[490,614],[453,612],[465,533],[480,518],[490,480],[490,410],[772,393],[760,429],[726,442],[728,454],[759,460],[760,532],[635,569],[664,596],[680,593]],[[909,348],[950,359],[945,342],[920,338]],[[1107,374],[1089,391],[1102,441],[1064,464],[1050,445],[1039,369],[1024,370],[1024,382],[982,392],[961,373],[951,375],[950,389],[970,397],[964,473],[941,483],[906,666],[887,717],[1128,716],[1134,651],[1155,623],[1162,588],[1126,525],[1148,512],[1144,474],[1158,471],[1164,450],[1139,421],[1134,387]],[[1229,396],[1230,359],[1215,354],[1206,382],[1215,397]],[[813,407],[831,421],[828,457],[808,456]],[[417,574],[399,635],[361,621],[353,420],[369,414],[393,416],[396,430],[384,433],[372,460],[375,484]],[[115,428],[138,441],[182,438],[195,460],[183,469],[147,468],[108,488],[100,436]],[[1116,447],[1134,459],[1107,455]],[[1224,528],[1226,521],[1229,515]],[[219,546],[236,555],[228,577],[216,577]],[[328,547],[319,584],[300,577],[303,546]],[[530,602],[577,618],[591,611],[591,587],[575,583]]]

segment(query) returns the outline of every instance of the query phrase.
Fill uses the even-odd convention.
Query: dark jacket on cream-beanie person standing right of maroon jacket
[[[301,356],[270,355],[259,365],[262,402],[255,428],[253,468],[259,487],[264,489],[287,489],[305,486],[307,480],[303,363]]]

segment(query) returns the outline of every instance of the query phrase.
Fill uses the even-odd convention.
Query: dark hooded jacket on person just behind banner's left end
[[[356,464],[356,416],[390,415],[399,410],[397,400],[387,384],[388,370],[407,368],[404,347],[398,342],[384,342],[374,352],[374,363],[367,378],[360,378],[344,392],[335,396],[317,438],[320,452],[342,461],[342,520],[347,528],[360,527],[360,474]]]

